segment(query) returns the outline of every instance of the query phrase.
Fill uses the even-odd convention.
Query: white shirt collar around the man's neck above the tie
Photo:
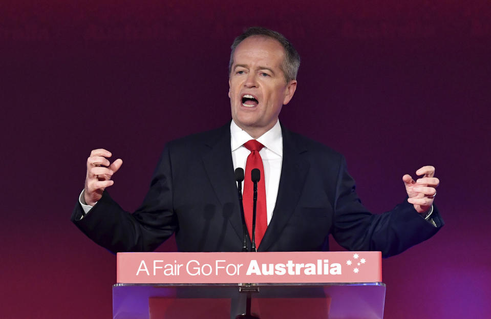
[[[233,120],[230,123],[231,148],[232,152],[241,147],[248,140],[253,138],[244,130],[242,130]],[[283,156],[283,136],[281,133],[280,121],[276,121],[271,129],[257,138],[257,141],[263,144],[266,148]]]

